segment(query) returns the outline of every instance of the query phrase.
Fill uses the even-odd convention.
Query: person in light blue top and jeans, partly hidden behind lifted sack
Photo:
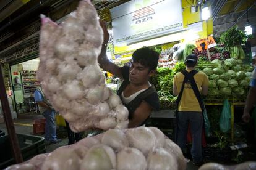
[[[61,139],[57,139],[55,114],[56,111],[51,107],[49,100],[46,99],[43,89],[39,86],[34,92],[35,102],[38,103],[40,113],[45,117],[45,140],[47,144],[56,144],[61,142]]]

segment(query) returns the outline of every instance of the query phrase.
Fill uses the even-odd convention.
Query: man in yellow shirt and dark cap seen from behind
[[[203,102],[200,94],[208,94],[208,78],[205,73],[196,71],[197,55],[190,54],[185,60],[186,70],[177,73],[173,78],[173,94],[177,100],[176,142],[182,151],[186,150],[187,130],[190,123],[192,132],[191,155],[193,163],[202,163],[202,127]],[[193,88],[194,87],[194,88]]]

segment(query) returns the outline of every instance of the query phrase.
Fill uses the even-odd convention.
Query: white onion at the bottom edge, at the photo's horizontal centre
[[[147,161],[137,148],[124,148],[117,153],[117,170],[145,170]]]

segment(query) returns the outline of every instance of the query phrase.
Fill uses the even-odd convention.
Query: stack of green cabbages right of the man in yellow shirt
[[[253,67],[244,65],[242,60],[213,60],[219,67],[206,67],[202,71],[210,80],[209,95],[211,97],[244,97],[249,87]]]

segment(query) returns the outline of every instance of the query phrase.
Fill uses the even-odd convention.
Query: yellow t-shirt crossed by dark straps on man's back
[[[191,70],[187,71],[190,72]],[[205,75],[205,73],[202,71],[195,74],[194,79],[200,92],[202,92],[202,86],[208,86],[209,84],[207,75]],[[184,75],[182,73],[177,73],[173,78],[173,84],[176,85],[178,93],[181,91],[183,80]],[[182,93],[181,102],[179,102],[178,111],[202,111],[197,97],[195,97],[195,93],[188,83],[184,84],[184,90]]]

